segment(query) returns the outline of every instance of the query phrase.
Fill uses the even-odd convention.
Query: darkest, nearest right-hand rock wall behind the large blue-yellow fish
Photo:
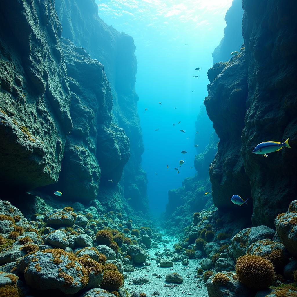
[[[297,3],[244,0],[243,8],[249,93],[241,153],[252,187],[252,222],[272,227],[296,197]],[[268,158],[252,153],[262,141],[289,137],[292,149]]]

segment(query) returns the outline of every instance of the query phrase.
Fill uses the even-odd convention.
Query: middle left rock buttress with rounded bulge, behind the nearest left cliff
[[[112,94],[101,63],[61,38],[71,91],[73,122],[58,184],[64,198],[93,200],[99,186],[116,186],[129,159],[129,139],[111,124]],[[112,180],[110,182],[109,180]]]

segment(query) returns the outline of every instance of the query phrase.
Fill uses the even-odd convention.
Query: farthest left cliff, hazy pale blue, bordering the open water
[[[113,95],[113,123],[124,129],[130,140],[130,159],[124,168],[122,190],[126,198],[131,198],[129,204],[143,211],[147,209],[147,180],[140,165],[143,143],[138,96],[134,90],[137,60],[133,39],[99,18],[94,0],[57,0],[55,7],[63,28],[62,36],[104,65]]]

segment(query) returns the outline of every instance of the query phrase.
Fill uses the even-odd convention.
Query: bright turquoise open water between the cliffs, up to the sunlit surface
[[[145,147],[142,166],[149,181],[149,206],[154,214],[160,214],[168,190],[180,187],[185,177],[196,173],[195,121],[207,96],[206,73],[212,66],[212,52],[223,37],[224,17],[232,0],[96,2],[99,16],[108,25],[134,38]],[[196,67],[201,70],[194,70]],[[143,113],[145,108],[148,110]],[[188,153],[181,154],[182,150]],[[185,163],[177,174],[174,168],[180,160]]]

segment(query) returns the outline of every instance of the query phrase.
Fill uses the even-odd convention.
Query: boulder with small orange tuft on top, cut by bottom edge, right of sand
[[[206,282],[208,297],[251,297],[252,291],[237,280],[233,272],[220,272]]]

